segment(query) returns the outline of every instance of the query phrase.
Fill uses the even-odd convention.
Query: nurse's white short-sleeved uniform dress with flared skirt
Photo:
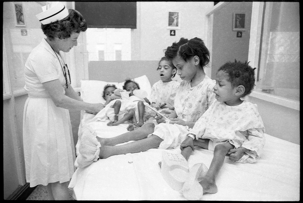
[[[58,55],[58,54],[57,54]],[[23,114],[23,148],[26,182],[30,187],[67,182],[75,171],[75,149],[68,109],[56,107],[43,82],[59,79],[65,93],[60,62],[43,38],[25,63],[28,98]],[[61,63],[61,65],[60,65]]]

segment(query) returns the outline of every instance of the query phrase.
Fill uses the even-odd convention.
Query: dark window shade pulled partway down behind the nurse
[[[88,28],[137,28],[136,2],[76,1]]]

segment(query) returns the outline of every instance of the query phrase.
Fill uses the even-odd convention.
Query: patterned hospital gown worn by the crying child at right
[[[261,155],[265,144],[264,132],[256,104],[243,101],[240,105],[228,106],[216,100],[188,134],[214,142],[229,140],[235,148],[242,146],[249,149],[237,162],[252,163]]]

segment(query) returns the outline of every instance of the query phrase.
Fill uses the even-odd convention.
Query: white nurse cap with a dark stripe
[[[68,16],[68,9],[61,2],[46,3],[45,6],[42,6],[42,10],[43,12],[37,14],[36,17],[43,25],[62,20]]]

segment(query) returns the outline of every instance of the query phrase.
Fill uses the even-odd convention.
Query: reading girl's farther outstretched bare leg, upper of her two
[[[99,140],[101,145],[114,146],[123,142],[146,138],[147,135],[154,132],[154,128],[155,125],[153,123],[146,123],[141,128],[137,128],[133,131],[123,133],[122,135],[118,135],[113,138],[99,138],[97,136],[97,139]]]

